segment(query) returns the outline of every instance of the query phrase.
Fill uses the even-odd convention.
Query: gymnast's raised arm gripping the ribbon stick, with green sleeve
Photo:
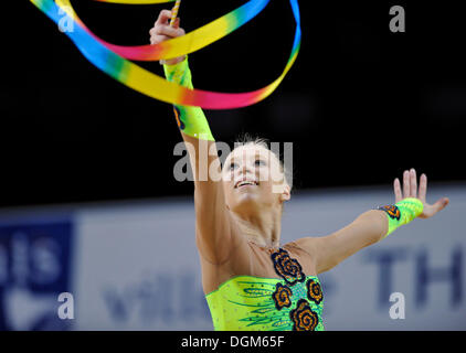
[[[151,44],[184,35],[180,20],[177,19],[174,25],[170,26],[170,18],[171,11],[160,12],[155,26],[149,31]],[[168,81],[193,88],[187,55],[167,60],[163,72]],[[215,140],[200,107],[174,105],[173,110],[194,176],[197,245],[206,260],[220,264],[229,257],[231,249],[236,247],[241,239],[234,236],[236,232],[225,205],[222,180],[209,174],[211,170],[221,175]]]

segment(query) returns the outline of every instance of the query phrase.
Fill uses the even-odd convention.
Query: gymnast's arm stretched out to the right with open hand
[[[322,237],[299,239],[299,245],[313,257],[317,272],[325,272],[360,249],[374,244],[415,217],[428,218],[448,204],[439,199],[434,204],[426,202],[427,176],[417,178],[414,169],[403,173],[403,191],[399,179],[393,183],[395,204],[361,214],[340,231]]]

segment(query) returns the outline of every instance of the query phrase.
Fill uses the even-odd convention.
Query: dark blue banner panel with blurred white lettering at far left
[[[0,330],[67,330],[57,315],[70,291],[70,221],[0,224]]]

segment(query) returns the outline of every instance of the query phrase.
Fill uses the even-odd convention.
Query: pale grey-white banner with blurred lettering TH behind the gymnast
[[[319,276],[327,330],[466,330],[466,185],[431,184],[428,196],[448,196],[451,204]],[[285,206],[282,244],[330,234],[392,202],[389,185],[296,193]],[[72,329],[212,330],[192,199],[70,208]],[[0,214],[0,225],[11,216]],[[14,218],[21,222],[22,213]],[[402,299],[404,319],[396,319]]]

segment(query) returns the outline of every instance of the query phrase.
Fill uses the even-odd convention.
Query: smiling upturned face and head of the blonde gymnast
[[[223,189],[229,210],[235,213],[282,208],[289,186],[278,158],[263,146],[235,148],[223,165]]]

